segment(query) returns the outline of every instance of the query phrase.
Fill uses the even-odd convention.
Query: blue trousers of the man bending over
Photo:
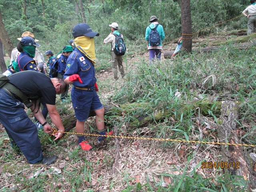
[[[29,163],[35,164],[42,160],[42,147],[36,125],[24,111],[24,105],[3,88],[0,88],[0,122],[10,140],[20,148]]]

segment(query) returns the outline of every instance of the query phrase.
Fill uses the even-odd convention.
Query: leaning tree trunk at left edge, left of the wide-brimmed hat
[[[11,58],[12,50],[13,50],[14,46],[5,30],[1,10],[0,10],[0,39],[2,40],[2,43],[4,44],[4,48],[6,49],[8,56]]]

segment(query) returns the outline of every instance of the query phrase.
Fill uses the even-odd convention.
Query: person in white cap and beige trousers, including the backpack
[[[117,66],[122,78],[124,78],[125,75],[122,56],[126,52],[126,46],[124,43],[123,35],[118,32],[118,24],[114,22],[109,26],[111,28],[111,33],[104,39],[103,44],[111,43],[112,70],[114,73],[114,79],[118,80]]]

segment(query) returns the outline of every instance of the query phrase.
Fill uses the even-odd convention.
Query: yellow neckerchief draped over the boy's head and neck
[[[92,64],[95,65],[95,47],[94,47],[94,38],[87,36],[77,37],[74,39],[76,48],[82,52],[88,59],[92,61]]]

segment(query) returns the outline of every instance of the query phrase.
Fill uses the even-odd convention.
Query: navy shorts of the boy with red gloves
[[[91,110],[103,108],[95,90],[80,90],[73,86],[71,90],[71,99],[78,121],[86,121]]]

